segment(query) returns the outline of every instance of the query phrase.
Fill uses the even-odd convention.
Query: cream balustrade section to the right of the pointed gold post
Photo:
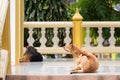
[[[86,28],[86,38],[85,38],[85,44],[84,44],[84,48],[91,51],[91,52],[120,52],[119,49],[120,47],[119,46],[116,46],[116,39],[114,37],[114,34],[115,34],[115,28],[119,28],[120,27],[120,22],[83,22],[82,24],[83,27]],[[95,47],[90,47],[90,42],[91,42],[91,37],[89,36],[90,34],[90,28],[91,27],[95,27],[95,28],[98,28],[98,37],[97,37],[97,46]],[[108,43],[109,45],[108,46],[105,46],[103,45],[103,42],[104,42],[104,38],[102,36],[102,28],[110,28],[110,37],[108,39]],[[108,34],[109,35],[109,34]],[[90,49],[88,49],[90,48]]]

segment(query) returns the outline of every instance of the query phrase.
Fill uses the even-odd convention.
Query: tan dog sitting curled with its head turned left
[[[92,73],[98,69],[99,61],[92,53],[80,49],[74,44],[64,46],[64,49],[77,58],[77,66],[72,69],[71,74],[77,72]]]

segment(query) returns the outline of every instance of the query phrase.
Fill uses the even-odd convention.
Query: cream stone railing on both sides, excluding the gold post
[[[39,42],[41,43],[40,47],[36,47],[38,51],[40,51],[43,54],[65,54],[68,53],[64,51],[62,47],[59,47],[59,38],[57,37],[58,35],[58,28],[65,28],[65,34],[66,37],[64,38],[64,43],[65,45],[68,45],[71,43],[72,39],[70,37],[70,29],[73,28],[73,23],[72,22],[24,22],[25,28],[29,29],[29,37],[27,39],[28,43],[33,46],[34,43],[34,38],[32,37],[33,35],[33,28],[41,28],[41,35],[42,37],[40,38]],[[82,27],[86,28],[85,33],[86,37],[84,39],[85,44],[82,45],[82,48],[85,50],[88,50],[92,53],[119,53],[120,52],[120,47],[115,46],[116,39],[114,37],[115,33],[115,28],[120,27],[120,22],[82,22]],[[98,28],[98,34],[99,36],[97,37],[97,46],[91,46],[91,37],[89,36],[90,34],[90,28],[91,27],[96,27]],[[103,37],[102,37],[102,28],[110,28],[110,38],[109,40],[109,46],[104,46],[103,45]],[[54,28],[53,33],[54,37],[52,38],[52,42],[54,44],[52,47],[47,47],[45,43],[47,42],[47,39],[45,37],[45,28]]]

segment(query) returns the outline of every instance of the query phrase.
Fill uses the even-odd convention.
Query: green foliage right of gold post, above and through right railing
[[[85,21],[119,21],[120,12],[114,10],[114,6],[117,3],[120,3],[120,0],[78,0],[77,3],[71,5],[70,7],[72,13],[76,8],[79,8],[80,14],[83,16],[83,20]],[[103,38],[109,39],[110,29],[103,28],[102,30]],[[117,28],[116,30],[115,37],[117,38],[120,33],[120,28]],[[92,41],[95,41],[98,37],[97,28],[91,29],[90,36],[93,39]]]

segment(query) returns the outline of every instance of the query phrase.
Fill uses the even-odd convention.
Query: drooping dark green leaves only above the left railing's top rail
[[[24,0],[25,21],[70,20],[67,0]]]

